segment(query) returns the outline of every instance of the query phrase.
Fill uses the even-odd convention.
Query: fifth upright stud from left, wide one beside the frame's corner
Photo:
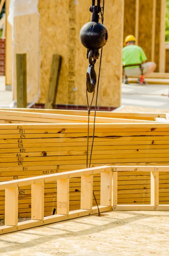
[[[113,172],[101,173],[100,205],[112,206],[112,196],[113,196],[112,181],[113,181]],[[114,189],[115,189],[115,186],[114,186]]]

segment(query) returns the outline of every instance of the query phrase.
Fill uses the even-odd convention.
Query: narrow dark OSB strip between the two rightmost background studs
[[[160,60],[160,19],[161,19],[161,0],[156,0],[156,17],[155,17],[155,63],[159,72]]]

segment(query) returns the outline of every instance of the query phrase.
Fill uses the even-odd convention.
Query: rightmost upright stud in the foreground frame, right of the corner
[[[151,205],[159,205],[159,172],[151,172]]]

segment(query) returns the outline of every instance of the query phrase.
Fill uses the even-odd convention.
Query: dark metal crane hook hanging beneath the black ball
[[[96,76],[96,72],[95,72],[95,62],[96,60],[93,60],[92,58],[93,55],[93,51],[90,50],[89,51],[89,66],[88,66],[88,70],[86,73],[86,87],[87,87],[87,91],[89,93],[93,93],[95,90],[95,86],[96,86],[96,81],[97,81],[97,76]]]

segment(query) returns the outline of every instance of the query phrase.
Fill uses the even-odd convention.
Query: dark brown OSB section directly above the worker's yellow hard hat
[[[136,0],[124,1],[124,38],[135,35],[135,7]]]

